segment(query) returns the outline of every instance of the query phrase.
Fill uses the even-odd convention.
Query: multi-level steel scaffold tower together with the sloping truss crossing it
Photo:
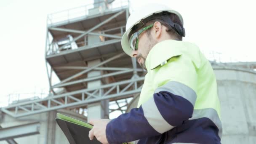
[[[90,5],[49,14],[45,42],[49,95],[1,110],[24,117],[63,108],[88,111],[88,104],[106,101],[118,106],[109,109],[109,104],[101,104],[106,115],[125,112],[127,100],[140,93],[145,74],[121,47],[128,16],[128,0],[94,0]],[[59,83],[53,84],[53,75]]]

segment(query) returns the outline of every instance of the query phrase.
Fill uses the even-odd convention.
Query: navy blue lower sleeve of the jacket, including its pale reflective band
[[[182,96],[160,91],[139,108],[111,120],[106,129],[109,144],[160,135],[192,117],[193,104]]]

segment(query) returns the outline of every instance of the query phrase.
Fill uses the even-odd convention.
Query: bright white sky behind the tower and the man
[[[47,92],[45,35],[47,14],[92,0],[0,0],[0,107],[10,93]],[[256,61],[254,0],[131,0],[164,3],[184,18],[185,41],[199,45],[208,59]]]

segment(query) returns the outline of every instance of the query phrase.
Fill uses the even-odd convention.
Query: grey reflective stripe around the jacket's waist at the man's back
[[[219,118],[218,113],[213,108],[205,108],[205,109],[194,109],[193,115],[189,120],[194,120],[202,117],[207,117],[210,119],[216,126],[219,128],[219,137],[222,136],[222,124]]]

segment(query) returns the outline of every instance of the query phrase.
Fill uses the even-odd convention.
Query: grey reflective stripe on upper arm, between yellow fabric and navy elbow
[[[187,99],[193,106],[195,106],[195,101],[197,99],[197,94],[192,88],[189,88],[187,85],[179,83],[177,81],[170,81],[165,85],[160,86],[155,90],[155,93],[160,91],[168,91],[174,95],[182,96]]]

